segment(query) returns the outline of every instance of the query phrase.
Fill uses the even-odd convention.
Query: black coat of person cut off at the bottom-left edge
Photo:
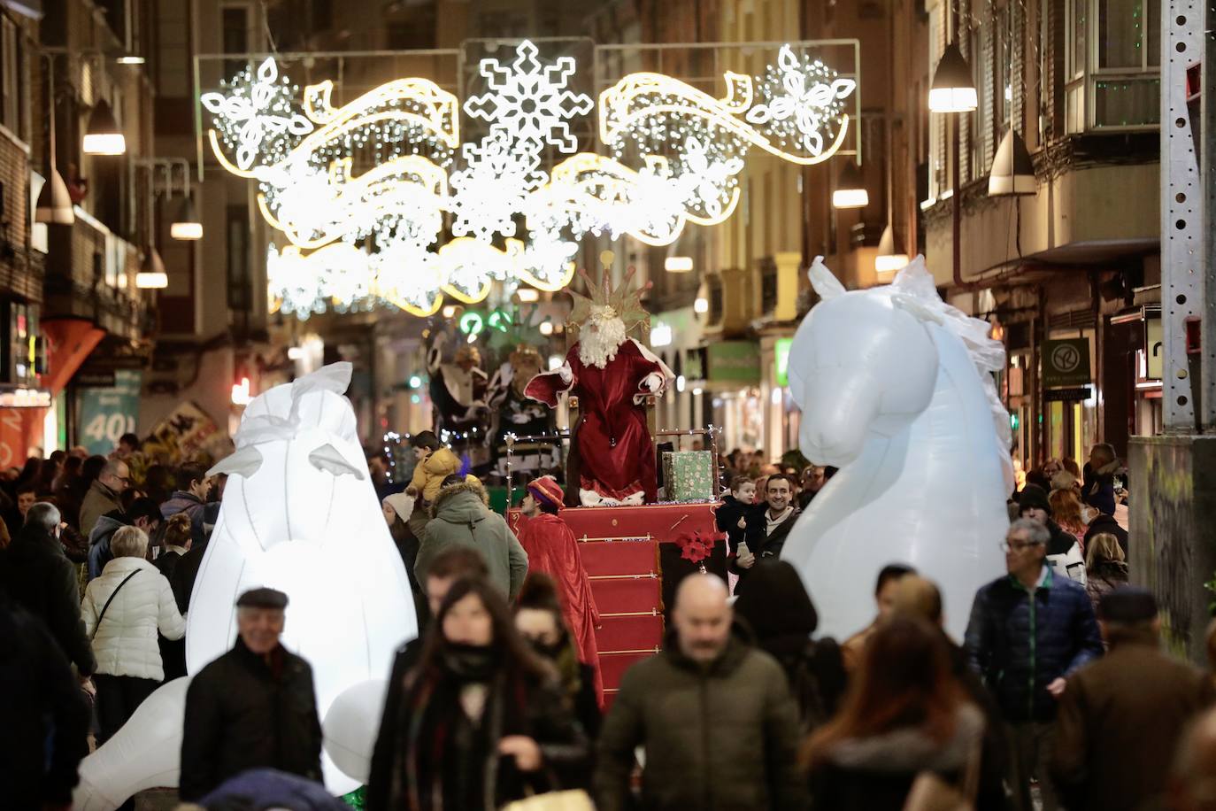
[[[89,705],[46,626],[0,591],[0,787],[6,809],[68,806]]]

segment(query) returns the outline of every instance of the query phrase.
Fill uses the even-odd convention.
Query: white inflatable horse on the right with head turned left
[[[962,638],[975,590],[1004,569],[1013,468],[990,374],[1004,348],[987,322],[941,300],[921,257],[894,283],[854,292],[821,259],[810,276],[822,302],[794,336],[789,389],[803,454],[840,472],[782,558],[823,633],[868,625],[879,569],[905,563],[941,587],[947,630]]]

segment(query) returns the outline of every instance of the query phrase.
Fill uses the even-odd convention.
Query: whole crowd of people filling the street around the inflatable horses
[[[382,497],[420,636],[385,674],[367,809],[552,795],[552,807],[606,811],[1216,810],[1216,678],[1162,648],[1154,597],[1127,585],[1105,446],[1076,474],[1049,461],[1026,477],[992,539],[1007,571],[973,604],[944,606],[936,584],[893,561],[873,623],[840,642],[816,635],[814,595],[781,559],[834,471],[731,454],[716,520],[732,584],[682,580],[662,652],[609,704],[562,484],[529,481],[508,524],[433,434],[411,443],[409,485]],[[68,807],[90,745],[185,674],[184,615],[223,481],[195,464],[153,477],[159,488],[133,481],[136,447],[0,483],[12,511],[0,784],[13,807]],[[281,643],[289,601],[237,596],[232,649],[195,674],[184,802],[344,807],[321,789],[311,668]],[[963,640],[945,632],[947,609],[969,612]]]

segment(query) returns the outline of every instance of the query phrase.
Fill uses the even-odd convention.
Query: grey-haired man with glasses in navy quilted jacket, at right
[[[968,661],[992,692],[1012,743],[1010,785],[1030,811],[1037,776],[1043,811],[1059,807],[1047,775],[1057,702],[1066,678],[1102,655],[1085,588],[1047,565],[1051,533],[1031,518],[1009,525],[1001,548],[1008,574],[975,593],[967,624]]]

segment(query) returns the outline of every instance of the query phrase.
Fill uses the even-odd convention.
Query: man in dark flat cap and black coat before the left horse
[[[232,649],[186,692],[179,795],[197,801],[248,768],[321,781],[321,722],[313,669],[278,642],[287,595],[253,588],[237,606]]]

